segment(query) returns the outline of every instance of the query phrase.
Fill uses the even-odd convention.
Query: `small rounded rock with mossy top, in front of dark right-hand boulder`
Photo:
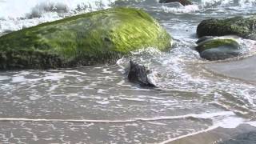
[[[202,39],[198,40],[198,46],[195,47],[201,58],[213,61],[233,58],[241,54],[241,46],[234,38],[203,37]]]

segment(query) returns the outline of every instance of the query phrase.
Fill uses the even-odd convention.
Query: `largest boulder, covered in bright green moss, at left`
[[[132,50],[170,46],[170,35],[143,10],[111,8],[0,37],[0,69],[93,66],[113,63]]]

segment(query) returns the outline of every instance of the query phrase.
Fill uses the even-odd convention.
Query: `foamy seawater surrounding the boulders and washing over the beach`
[[[204,68],[194,50],[206,18],[250,16],[256,0],[0,0],[0,35],[114,6],[146,10],[174,38],[166,53],[134,51],[112,66],[0,72],[0,143],[168,143],[240,124],[256,126],[256,86]],[[256,42],[238,38],[244,58]],[[130,83],[129,60],[151,70],[158,86]]]

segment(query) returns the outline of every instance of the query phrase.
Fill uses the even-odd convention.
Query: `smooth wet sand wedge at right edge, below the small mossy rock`
[[[210,63],[204,67],[216,74],[256,84],[256,56],[231,62]]]

